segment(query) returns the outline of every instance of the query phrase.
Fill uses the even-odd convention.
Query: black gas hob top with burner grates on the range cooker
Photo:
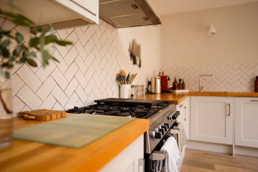
[[[87,113],[94,115],[111,115],[111,116],[127,116],[135,118],[148,118],[155,112],[158,112],[170,103],[159,100],[141,100],[141,99],[100,99],[95,100],[97,104],[74,107],[69,109],[67,113]]]

